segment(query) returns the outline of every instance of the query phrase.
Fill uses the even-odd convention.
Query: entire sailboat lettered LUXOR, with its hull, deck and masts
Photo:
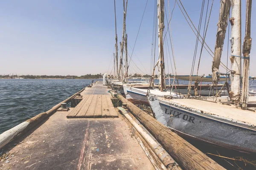
[[[231,22],[231,89],[233,104],[210,102],[201,99],[165,99],[148,94],[148,102],[156,118],[181,136],[204,141],[221,147],[256,153],[256,116],[247,110],[249,96],[249,54],[251,48],[250,16],[252,0],[247,0],[246,36],[243,44],[244,73],[243,89],[240,96],[240,58],[241,58],[241,0],[221,0],[220,19],[228,22],[230,6]],[[218,25],[219,26],[219,25]],[[217,80],[225,24],[218,27],[213,63],[213,81]],[[220,41],[220,39],[222,39]],[[249,109],[250,110],[250,109]]]

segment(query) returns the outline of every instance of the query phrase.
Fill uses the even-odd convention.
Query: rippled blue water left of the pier
[[[48,111],[91,79],[0,79],[0,134]]]

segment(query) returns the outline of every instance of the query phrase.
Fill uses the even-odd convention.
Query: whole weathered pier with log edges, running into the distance
[[[167,137],[168,133],[173,137],[168,139],[169,144],[165,144],[168,147],[163,147],[161,145],[163,142],[158,142],[157,137],[154,138],[154,133],[149,133],[154,130],[146,130],[136,119],[139,115],[142,121],[145,113],[128,103],[128,107],[133,107],[135,116],[123,108],[119,108],[122,112],[120,114],[118,109],[113,107],[109,90],[111,89],[103,86],[102,82],[96,82],[63,101],[73,102],[73,108],[63,109],[61,104],[58,104],[49,111],[40,113],[2,133],[0,148],[3,152],[0,168],[4,170],[224,169],[182,138],[162,127],[160,123],[156,123],[158,130],[163,128]],[[138,114],[137,111],[140,113]],[[148,119],[152,125],[157,122],[149,115],[149,117],[144,116],[143,119]],[[164,136],[160,135],[160,138]],[[174,148],[177,142],[180,144]],[[168,150],[165,150],[166,148]],[[186,150],[187,154],[182,150]],[[169,153],[175,153],[173,155],[179,157],[178,161],[182,167]],[[183,160],[184,158],[187,160]],[[193,162],[193,159],[198,160]]]

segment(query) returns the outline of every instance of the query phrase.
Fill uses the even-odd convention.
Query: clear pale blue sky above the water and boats
[[[175,0],[169,1],[172,9]],[[246,1],[241,1],[243,40]],[[182,2],[197,26],[202,1],[182,0]],[[166,10],[168,10],[168,0],[165,0],[165,3]],[[128,0],[126,25],[129,54],[134,46],[145,4],[146,0]],[[251,76],[256,76],[256,67],[254,67],[256,65],[255,5],[253,2]],[[220,0],[214,0],[206,37],[206,42],[212,51],[215,47],[219,7]],[[118,41],[120,41],[123,17],[122,0],[116,0],[116,15]],[[153,16],[154,0],[148,0],[132,56],[134,63],[140,69],[135,68],[133,64],[132,73],[150,74]],[[0,2],[0,74],[78,76],[105,72],[110,74],[113,68],[115,44],[114,22],[113,0],[2,0]],[[177,74],[189,75],[196,37],[177,5],[173,12],[171,25]],[[200,48],[198,51],[200,52]],[[221,61],[227,62],[227,36]],[[230,59],[228,61],[230,68]],[[212,57],[204,50],[199,74],[210,74],[211,65]],[[169,71],[167,66],[169,66]],[[221,71],[225,72],[224,69]],[[168,72],[172,73],[170,62],[169,65],[166,63],[166,73]]]

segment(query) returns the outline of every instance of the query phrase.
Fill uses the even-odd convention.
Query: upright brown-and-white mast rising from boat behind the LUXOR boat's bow
[[[166,88],[164,57],[163,57],[163,28],[164,28],[164,0],[157,0],[158,12],[158,51],[159,51],[159,89],[163,91]]]

